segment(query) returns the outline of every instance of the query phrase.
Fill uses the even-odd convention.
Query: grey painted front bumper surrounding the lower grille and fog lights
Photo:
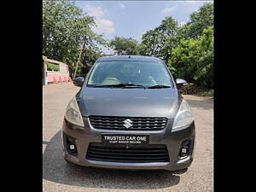
[[[191,165],[194,155],[195,146],[195,123],[189,127],[180,130],[172,131],[172,119],[169,119],[166,128],[161,131],[110,131],[96,130],[91,125],[89,120],[84,120],[84,129],[70,124],[66,119],[63,121],[62,131],[68,137],[72,137],[77,147],[77,153],[71,154],[67,149],[67,141],[63,139],[62,132],[62,147],[63,157],[69,162],[80,166],[94,166],[102,168],[114,169],[132,169],[132,170],[168,170],[175,171],[187,168]],[[169,162],[150,162],[150,163],[126,163],[126,162],[109,162],[101,160],[87,160],[86,153],[89,143],[102,143],[102,134],[148,134],[149,144],[165,144],[168,150]],[[180,148],[184,141],[191,140],[189,154],[183,158],[179,158]]]

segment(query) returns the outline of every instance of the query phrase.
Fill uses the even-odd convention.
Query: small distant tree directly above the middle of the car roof
[[[133,38],[115,37],[109,42],[117,55],[138,55],[137,40]]]

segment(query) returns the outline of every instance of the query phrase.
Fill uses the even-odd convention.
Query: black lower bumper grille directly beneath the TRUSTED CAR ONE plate
[[[145,146],[102,146],[90,143],[86,154],[87,160],[100,160],[126,163],[169,162],[166,145]]]

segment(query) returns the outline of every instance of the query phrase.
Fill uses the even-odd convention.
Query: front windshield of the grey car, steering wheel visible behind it
[[[170,74],[160,62],[99,61],[90,73],[88,86],[111,84],[166,85],[172,87]]]

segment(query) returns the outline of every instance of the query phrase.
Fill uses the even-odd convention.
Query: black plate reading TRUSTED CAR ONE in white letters
[[[148,135],[119,135],[104,134],[102,135],[102,143],[104,144],[148,144]]]

